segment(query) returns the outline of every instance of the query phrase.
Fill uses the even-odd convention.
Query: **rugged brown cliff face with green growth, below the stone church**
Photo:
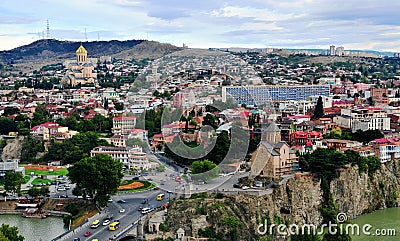
[[[352,219],[376,209],[398,206],[399,178],[399,160],[382,165],[372,176],[360,174],[357,166],[348,166],[331,182],[330,189],[338,212]],[[227,240],[257,240],[263,237],[257,227],[265,220],[275,224],[321,225],[322,203],[321,182],[301,177],[260,197],[211,194],[176,200],[170,206],[166,224],[172,232],[183,228],[187,235],[196,237],[204,236],[208,230]],[[269,238],[285,239],[273,235]]]

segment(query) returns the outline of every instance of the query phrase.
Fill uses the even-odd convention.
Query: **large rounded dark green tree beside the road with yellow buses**
[[[83,158],[68,168],[68,177],[76,183],[74,195],[89,195],[100,207],[108,205],[111,195],[117,192],[123,173],[123,164],[109,155],[99,154]]]

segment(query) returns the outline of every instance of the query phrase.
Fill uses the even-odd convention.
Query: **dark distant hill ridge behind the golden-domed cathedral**
[[[12,50],[0,51],[0,62],[6,64],[55,63],[75,57],[76,49],[82,44],[88,57],[118,56],[121,58],[159,58],[165,54],[181,50],[171,44],[147,40],[111,40],[92,42],[60,41],[41,39]],[[149,55],[146,55],[146,52]]]

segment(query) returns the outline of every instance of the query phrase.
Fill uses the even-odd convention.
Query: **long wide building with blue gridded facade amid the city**
[[[329,85],[223,86],[222,101],[232,97],[239,104],[260,105],[287,100],[306,100],[308,96],[329,96]]]

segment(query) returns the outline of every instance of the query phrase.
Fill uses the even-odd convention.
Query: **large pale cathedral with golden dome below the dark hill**
[[[87,50],[81,44],[75,53],[76,59],[68,63],[67,72],[61,79],[61,84],[74,87],[87,84],[96,86],[97,73],[94,72],[94,65],[87,57]]]

